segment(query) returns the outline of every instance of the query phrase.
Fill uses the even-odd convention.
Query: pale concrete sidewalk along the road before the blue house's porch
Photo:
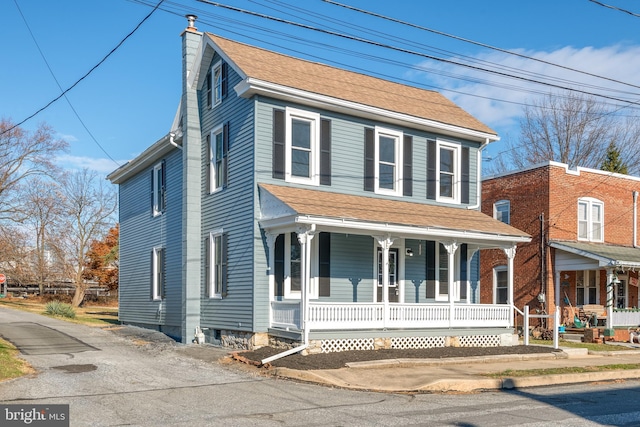
[[[274,375],[347,389],[380,392],[472,392],[593,381],[640,379],[640,369],[529,377],[490,378],[486,374],[541,368],[639,364],[638,350],[588,354],[562,348],[555,354],[504,355],[452,359],[396,359],[349,364],[346,368],[297,371],[275,368]]]

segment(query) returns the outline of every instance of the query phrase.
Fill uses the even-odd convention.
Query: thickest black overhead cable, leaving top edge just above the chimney
[[[345,38],[345,39],[352,40],[352,41],[358,41],[358,42],[361,42],[361,43],[366,43],[366,44],[370,44],[370,45],[373,45],[373,46],[382,47],[382,48],[385,48],[385,49],[395,50],[395,51],[402,52],[402,53],[408,53],[408,54],[411,54],[411,55],[420,56],[420,57],[427,58],[427,59],[432,59],[434,61],[439,61],[439,62],[443,62],[443,63],[446,63],[446,64],[457,65],[457,66],[460,66],[460,67],[465,67],[465,68],[473,69],[473,70],[476,70],[476,71],[482,71],[482,72],[487,72],[487,73],[491,73],[491,74],[496,74],[496,75],[499,75],[499,76],[502,76],[502,77],[510,77],[510,78],[513,78],[513,79],[522,80],[522,81],[526,81],[526,82],[529,82],[529,83],[541,84],[541,85],[553,87],[553,88],[556,88],[556,89],[562,89],[562,90],[582,93],[582,94],[585,94],[585,95],[597,96],[597,97],[610,99],[610,100],[614,100],[614,101],[618,101],[618,102],[622,102],[622,103],[626,103],[626,104],[630,104],[630,105],[640,105],[639,101],[625,100],[625,99],[616,98],[616,97],[609,96],[609,95],[598,94],[598,93],[584,91],[584,90],[575,89],[575,88],[569,88],[569,87],[561,86],[561,85],[554,84],[554,83],[548,83],[548,82],[545,83],[545,82],[541,82],[541,81],[538,81],[538,80],[535,80],[535,79],[522,77],[522,76],[516,76],[516,75],[512,75],[512,74],[508,74],[508,73],[504,73],[504,72],[500,72],[500,71],[496,71],[496,70],[488,70],[486,68],[482,68],[482,67],[478,67],[478,66],[474,66],[474,65],[470,65],[470,64],[464,64],[464,63],[461,63],[461,62],[458,62],[458,61],[453,61],[453,60],[450,60],[450,59],[439,58],[439,57],[433,56],[433,55],[427,55],[427,54],[416,52],[416,51],[413,51],[413,50],[404,49],[404,48],[401,48],[401,47],[392,46],[392,45],[389,45],[389,44],[380,43],[380,42],[376,42],[376,41],[373,41],[373,40],[368,40],[368,39],[365,39],[365,38],[362,38],[362,37],[349,36],[349,35],[346,35],[346,34],[335,32],[335,31],[323,30],[321,28],[313,27],[313,26],[310,26],[310,25],[305,25],[305,24],[301,24],[301,23],[298,23],[298,22],[293,22],[293,21],[289,21],[289,20],[286,20],[286,19],[265,15],[265,14],[262,14],[262,13],[252,12],[250,10],[241,9],[241,8],[237,8],[237,7],[229,6],[229,5],[224,5],[222,3],[218,3],[218,2],[214,2],[214,1],[210,1],[210,0],[198,0],[198,1],[201,2],[201,3],[210,4],[212,6],[220,7],[220,8],[223,8],[223,9],[228,9],[228,10],[232,10],[232,11],[235,11],[235,12],[240,12],[240,13],[244,13],[244,14],[248,14],[248,15],[252,15],[252,16],[257,16],[257,17],[260,17],[260,18],[270,19],[270,20],[273,20],[273,21],[276,21],[276,22],[289,24],[289,25],[293,25],[293,26],[304,28],[304,29],[308,29],[308,30],[313,30],[313,31],[324,33],[324,34],[329,34],[329,35]]]

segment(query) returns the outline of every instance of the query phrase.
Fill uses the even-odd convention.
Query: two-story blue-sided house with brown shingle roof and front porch
[[[194,19],[171,132],[109,176],[120,319],[248,348],[510,344],[513,310],[476,292],[479,250],[513,261],[529,241],[479,211],[495,132],[439,93]]]

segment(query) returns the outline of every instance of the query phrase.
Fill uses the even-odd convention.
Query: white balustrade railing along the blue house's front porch
[[[272,302],[272,326],[300,328],[299,303]],[[453,310],[452,310],[453,307]],[[309,328],[324,330],[382,328],[510,327],[508,305],[389,304],[385,317],[381,303],[309,304]]]

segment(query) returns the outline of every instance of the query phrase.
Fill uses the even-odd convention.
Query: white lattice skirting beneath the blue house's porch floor
[[[381,346],[380,342],[384,341],[386,341],[386,345]],[[499,347],[500,343],[500,335],[468,335],[458,337],[393,337],[388,339],[332,339],[322,340],[320,351],[322,353],[332,353],[351,350],[376,350],[380,348],[419,349],[447,347],[450,345],[457,345],[459,347]]]

